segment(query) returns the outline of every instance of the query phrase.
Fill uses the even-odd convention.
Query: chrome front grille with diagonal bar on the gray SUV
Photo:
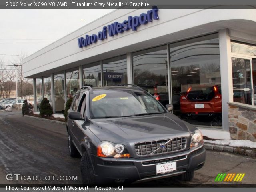
[[[176,152],[185,149],[185,147],[186,137],[140,142],[134,144],[136,154],[139,156]]]

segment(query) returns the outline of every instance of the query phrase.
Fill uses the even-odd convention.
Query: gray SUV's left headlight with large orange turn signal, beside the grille
[[[99,157],[130,157],[128,150],[122,144],[114,144],[108,141],[102,141],[97,146],[97,156]]]

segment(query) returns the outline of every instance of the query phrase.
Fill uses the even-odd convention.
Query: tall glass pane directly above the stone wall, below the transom
[[[251,59],[232,57],[234,102],[253,104],[251,76]]]

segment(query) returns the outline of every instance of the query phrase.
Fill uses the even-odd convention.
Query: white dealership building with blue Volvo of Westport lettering
[[[63,113],[82,86],[136,84],[197,127],[256,141],[255,9],[117,9],[22,68],[35,110],[46,97]]]

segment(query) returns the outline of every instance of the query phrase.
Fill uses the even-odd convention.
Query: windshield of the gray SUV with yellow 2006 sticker
[[[164,113],[166,110],[144,92],[118,92],[90,96],[92,118],[115,118]]]

